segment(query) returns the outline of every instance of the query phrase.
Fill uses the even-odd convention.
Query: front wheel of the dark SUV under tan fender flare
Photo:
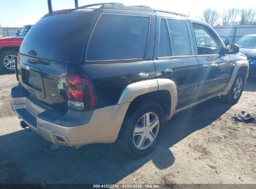
[[[223,96],[224,102],[229,104],[236,104],[244,90],[244,77],[242,75],[237,75],[232,85],[232,88],[229,90],[225,96]]]

